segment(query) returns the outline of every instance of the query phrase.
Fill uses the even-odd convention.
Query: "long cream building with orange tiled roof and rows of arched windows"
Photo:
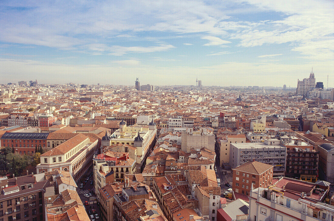
[[[93,155],[98,151],[98,140],[84,134],[61,143],[57,147],[41,154],[37,173],[54,170],[68,171],[75,182],[79,182],[93,163]]]

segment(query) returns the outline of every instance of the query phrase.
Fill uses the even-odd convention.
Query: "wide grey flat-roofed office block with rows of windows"
[[[231,168],[255,160],[274,166],[274,175],[284,175],[287,148],[279,144],[277,139],[265,139],[265,143],[231,143]]]

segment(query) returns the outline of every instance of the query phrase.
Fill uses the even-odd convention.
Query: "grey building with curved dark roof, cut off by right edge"
[[[318,146],[319,174],[327,182],[334,183],[334,145],[324,143]]]

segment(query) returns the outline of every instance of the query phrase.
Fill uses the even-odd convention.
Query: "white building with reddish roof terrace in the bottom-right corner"
[[[331,221],[334,206],[322,203],[328,190],[321,186],[289,178],[281,178],[271,188],[256,188],[249,195],[250,221]]]

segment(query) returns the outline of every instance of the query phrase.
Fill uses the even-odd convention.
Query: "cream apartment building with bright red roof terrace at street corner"
[[[95,192],[108,183],[124,182],[125,174],[136,172],[136,161],[129,153],[107,151],[93,157]]]

